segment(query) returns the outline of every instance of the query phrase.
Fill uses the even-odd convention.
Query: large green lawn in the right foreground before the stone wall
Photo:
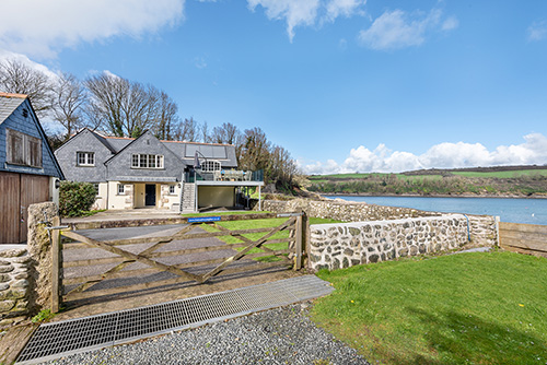
[[[547,259],[477,252],[352,267],[312,318],[371,364],[547,364]]]

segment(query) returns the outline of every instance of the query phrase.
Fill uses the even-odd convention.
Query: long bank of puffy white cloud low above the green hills
[[[547,138],[542,133],[524,136],[524,143],[500,145],[488,151],[480,143],[440,143],[426,153],[392,151],[383,143],[370,151],[363,145],[351,149],[344,163],[334,160],[302,165],[306,174],[400,173],[420,168],[457,168],[497,165],[543,165],[547,163]]]

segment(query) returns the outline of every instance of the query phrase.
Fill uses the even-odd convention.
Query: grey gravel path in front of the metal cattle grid
[[[315,327],[310,304],[171,333],[47,364],[364,364],[357,351]]]

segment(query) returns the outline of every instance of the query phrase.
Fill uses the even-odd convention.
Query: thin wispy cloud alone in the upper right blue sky
[[[454,16],[442,21],[442,11],[438,9],[427,14],[409,14],[403,10],[394,10],[376,17],[368,30],[359,32],[358,38],[372,49],[399,49],[421,45],[428,31],[451,31],[457,25],[457,19]]]

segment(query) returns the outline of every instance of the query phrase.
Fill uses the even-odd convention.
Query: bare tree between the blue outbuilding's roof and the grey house
[[[83,126],[83,106],[88,95],[80,80],[73,74],[61,73],[53,87],[54,119],[67,129],[66,138]]]

